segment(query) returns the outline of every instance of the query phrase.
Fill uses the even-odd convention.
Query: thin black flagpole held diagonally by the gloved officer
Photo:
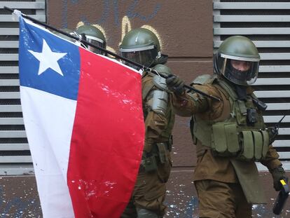
[[[7,11],[10,11],[11,13],[14,13],[14,10],[12,8],[8,8],[8,7],[4,6],[4,9],[6,9]],[[64,31],[60,30],[60,29],[56,29],[55,27],[52,27],[52,26],[50,26],[50,25],[48,25],[48,24],[46,24],[44,22],[41,22],[39,20],[36,20],[36,19],[34,19],[32,17],[29,17],[28,15],[25,15],[24,13],[21,13],[21,15],[22,15],[23,18],[26,18],[27,20],[31,20],[32,22],[35,22],[38,25],[41,25],[41,26],[46,27],[48,29],[53,29],[55,32],[59,32],[60,34],[63,34],[64,36],[68,36],[71,39],[74,39],[76,41],[80,41],[81,43],[84,43],[85,45],[92,46],[93,48],[97,48],[98,50],[102,50],[102,52],[107,53],[109,55],[112,55],[113,57],[117,57],[120,60],[124,60],[125,62],[128,62],[130,64],[133,64],[134,66],[139,67],[140,69],[144,69],[145,71],[150,71],[151,73],[156,74],[156,75],[159,75],[159,76],[161,76],[161,77],[163,77],[165,79],[167,79],[167,77],[168,77],[167,75],[158,73],[156,70],[151,69],[150,67],[145,67],[142,64],[139,64],[139,63],[134,62],[134,61],[132,61],[130,59],[127,59],[126,57],[117,55],[116,53],[113,53],[110,50],[106,50],[105,48],[96,46],[96,45],[94,45],[94,44],[92,44],[92,43],[90,43],[90,42],[88,42],[88,41],[86,41],[84,39],[81,39],[80,37],[73,36],[73,35],[71,35],[71,34],[69,34],[67,32],[64,32]],[[187,86],[187,85],[184,84],[184,88],[187,88],[188,90],[191,90],[191,91],[193,91],[195,93],[199,93],[200,95],[204,95],[205,97],[209,97],[212,100],[217,100],[219,102],[221,101],[218,97],[215,97],[213,95],[209,95],[207,93],[204,93],[204,92],[202,92],[200,90],[197,90],[197,89],[195,89],[195,88],[193,88],[191,86]]]

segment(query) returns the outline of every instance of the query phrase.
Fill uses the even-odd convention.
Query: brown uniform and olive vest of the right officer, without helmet
[[[279,155],[269,145],[261,110],[253,101],[256,96],[248,86],[246,99],[240,100],[233,84],[216,75],[200,76],[192,84],[221,100],[196,93],[173,96],[175,112],[192,116],[200,217],[251,217],[251,205],[265,203],[254,161],[270,171],[281,165]],[[256,111],[251,122],[247,115],[250,109]]]

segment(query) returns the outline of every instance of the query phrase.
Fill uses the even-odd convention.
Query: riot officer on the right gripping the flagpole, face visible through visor
[[[266,104],[254,95],[260,55],[244,36],[230,36],[214,55],[214,76],[202,75],[191,83],[218,97],[211,100],[186,93],[184,81],[169,76],[174,110],[192,116],[191,133],[198,163],[194,172],[200,217],[251,217],[251,205],[265,203],[255,161],[272,174],[274,188],[286,182],[279,155],[272,147],[272,131],[265,126]]]

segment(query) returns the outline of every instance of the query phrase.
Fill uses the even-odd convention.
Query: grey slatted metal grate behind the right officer
[[[258,47],[261,66],[255,94],[268,104],[263,114],[267,125],[286,114],[273,145],[290,170],[290,1],[213,1],[214,49],[232,35],[247,36]]]

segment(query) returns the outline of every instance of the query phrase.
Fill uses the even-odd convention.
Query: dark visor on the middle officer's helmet
[[[123,51],[123,52],[120,52],[120,55],[134,62],[142,64],[145,67],[150,67],[158,55],[158,50],[157,48],[153,48],[150,50],[139,50],[139,51],[128,51],[128,52]],[[128,62],[125,62],[125,64],[136,69],[135,66],[132,66],[132,64]]]

